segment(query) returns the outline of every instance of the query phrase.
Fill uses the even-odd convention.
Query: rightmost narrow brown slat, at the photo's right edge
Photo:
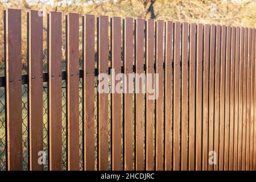
[[[250,29],[250,45],[251,45],[251,52],[249,54],[250,60],[251,60],[251,99],[250,99],[250,171],[253,171],[253,127],[254,127],[254,80],[255,80],[255,62],[253,60],[253,40],[255,40],[255,32],[254,29]]]

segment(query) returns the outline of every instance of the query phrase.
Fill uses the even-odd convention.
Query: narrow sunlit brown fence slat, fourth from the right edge
[[[234,78],[234,171],[238,169],[238,112],[239,112],[239,51],[240,51],[240,27],[236,27],[235,47],[235,78]]]

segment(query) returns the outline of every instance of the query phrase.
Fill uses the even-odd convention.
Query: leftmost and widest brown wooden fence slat
[[[7,169],[22,170],[21,11],[5,11]]]

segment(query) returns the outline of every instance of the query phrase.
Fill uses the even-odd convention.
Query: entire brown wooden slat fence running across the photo
[[[28,84],[28,166],[43,169],[38,152],[43,151],[44,82],[48,169],[62,169],[63,80],[67,169],[80,169],[80,78],[82,169],[256,169],[255,28],[119,17],[109,23],[108,16],[96,20],[94,15],[82,15],[81,35],[81,16],[67,14],[63,71],[62,15],[51,12],[47,14],[48,72],[43,72],[46,16],[40,15],[40,11],[27,13],[28,74],[22,75],[21,11],[5,11],[5,75],[0,86],[5,87],[8,170],[23,169],[22,84]],[[159,96],[148,100],[149,93],[94,92],[95,78],[110,74],[111,68],[125,75],[146,73],[147,82],[148,73],[159,73]]]

